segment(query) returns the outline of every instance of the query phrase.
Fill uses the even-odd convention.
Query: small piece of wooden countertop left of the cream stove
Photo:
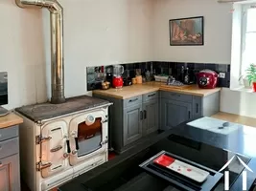
[[[23,123],[23,118],[11,113],[7,116],[0,117],[0,129]]]

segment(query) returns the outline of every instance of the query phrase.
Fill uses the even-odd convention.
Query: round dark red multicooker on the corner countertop
[[[218,74],[211,70],[203,70],[197,74],[198,87],[203,89],[214,89],[218,82]]]

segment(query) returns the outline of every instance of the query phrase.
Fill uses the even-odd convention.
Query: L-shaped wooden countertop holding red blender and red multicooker
[[[163,87],[162,86],[163,84],[164,83],[161,83],[161,82],[146,82],[143,84],[125,86],[122,89],[110,88],[108,90],[94,90],[93,94],[126,99],[132,96],[140,96],[140,95],[148,94],[158,90],[175,92],[175,93],[180,93],[185,95],[193,95],[193,96],[209,96],[211,94],[221,91],[221,88],[199,89],[197,85],[192,85],[188,89],[176,89],[173,87]]]

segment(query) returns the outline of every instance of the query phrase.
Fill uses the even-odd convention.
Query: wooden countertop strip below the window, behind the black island
[[[228,114],[224,112],[219,112],[213,115],[212,117],[218,118],[221,120],[226,120],[229,122],[240,123],[246,126],[256,127],[256,118],[253,118],[253,117],[243,117],[243,116]]]

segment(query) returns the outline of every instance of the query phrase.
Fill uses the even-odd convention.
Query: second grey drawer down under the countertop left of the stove
[[[0,142],[0,159],[18,153],[18,138],[12,138]]]

